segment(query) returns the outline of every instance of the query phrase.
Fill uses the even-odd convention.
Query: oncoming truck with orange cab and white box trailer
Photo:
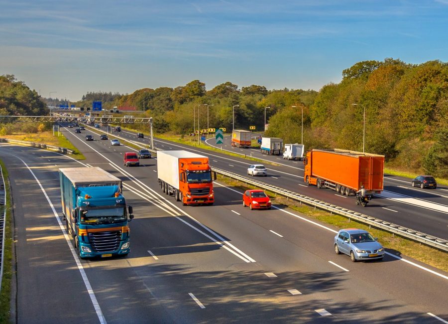
[[[185,205],[215,202],[209,158],[187,151],[157,151],[157,177],[167,195]]]

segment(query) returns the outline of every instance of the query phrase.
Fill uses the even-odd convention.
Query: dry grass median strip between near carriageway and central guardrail
[[[229,179],[227,177],[224,177],[223,175],[218,175],[218,179],[231,186],[240,188],[241,190],[254,188],[253,186],[246,185],[244,182]],[[378,241],[380,241],[381,244],[386,249],[388,249],[389,253],[400,256],[406,255],[415,260],[419,260],[435,268],[448,272],[448,253],[446,252],[423,245],[418,242],[414,242],[398,235],[393,235],[392,233],[386,232],[381,229],[377,229],[374,227],[369,228],[369,225],[359,223],[353,219],[350,220],[346,217],[336,214],[331,215],[329,212],[320,209],[315,210],[314,207],[300,204],[300,202],[298,201],[276,195],[275,193],[269,192],[268,190],[266,191],[266,194],[271,197],[272,204],[290,208],[301,213],[303,216],[316,219],[329,225],[333,225],[338,229],[349,227],[364,229],[366,231],[369,231],[374,237],[378,237]],[[333,249],[333,247],[329,246],[329,249]]]

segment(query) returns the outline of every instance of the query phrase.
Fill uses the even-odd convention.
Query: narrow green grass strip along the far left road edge
[[[3,278],[0,292],[0,323],[10,323],[10,296],[12,278],[16,275],[12,270],[12,228],[11,228],[11,193],[9,192],[8,172],[0,160],[6,188],[6,223],[4,224]],[[1,214],[3,217],[3,214]]]

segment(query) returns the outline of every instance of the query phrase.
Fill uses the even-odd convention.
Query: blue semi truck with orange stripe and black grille
[[[81,258],[127,255],[132,207],[119,178],[99,167],[59,169],[63,220]]]

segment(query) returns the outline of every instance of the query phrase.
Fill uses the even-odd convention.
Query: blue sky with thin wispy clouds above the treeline
[[[448,61],[448,0],[0,0],[0,75],[81,100],[186,85],[319,90],[364,60]]]

